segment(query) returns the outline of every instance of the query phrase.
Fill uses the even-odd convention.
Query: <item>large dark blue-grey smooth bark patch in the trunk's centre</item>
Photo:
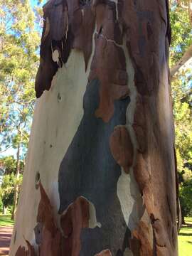
[[[117,197],[121,168],[114,161],[109,145],[114,127],[126,124],[129,97],[114,102],[114,115],[105,123],[95,117],[100,102],[99,85],[99,80],[92,80],[87,85],[84,115],[58,174],[59,213],[63,213],[78,196],[84,196],[94,204],[97,221],[102,225],[101,228],[82,230],[80,256],[87,252],[95,255],[106,248],[112,255],[123,255],[130,237]]]

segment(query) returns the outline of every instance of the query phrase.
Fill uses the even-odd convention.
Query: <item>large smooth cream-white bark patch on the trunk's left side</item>
[[[40,193],[36,190],[37,172],[51,203],[55,201],[54,212],[57,218],[59,200],[56,183],[59,166],[84,114],[82,101],[87,77],[82,52],[72,50],[68,62],[55,74],[52,82],[54,86],[37,100],[14,227],[16,242],[14,239],[11,241],[10,256],[15,255],[19,245],[25,245],[23,236],[28,241],[33,240],[40,201]],[[26,209],[24,215],[23,209]]]

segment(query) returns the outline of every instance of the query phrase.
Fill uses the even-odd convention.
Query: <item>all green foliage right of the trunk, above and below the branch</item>
[[[169,1],[171,4],[172,42],[170,65],[174,66],[192,44],[192,26],[188,0]],[[182,68],[171,80],[176,156],[181,212],[192,214],[192,83],[190,66]]]

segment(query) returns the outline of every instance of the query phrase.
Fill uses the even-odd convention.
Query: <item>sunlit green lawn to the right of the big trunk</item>
[[[183,225],[178,234],[178,256],[192,255],[192,218],[185,218],[186,225]]]

